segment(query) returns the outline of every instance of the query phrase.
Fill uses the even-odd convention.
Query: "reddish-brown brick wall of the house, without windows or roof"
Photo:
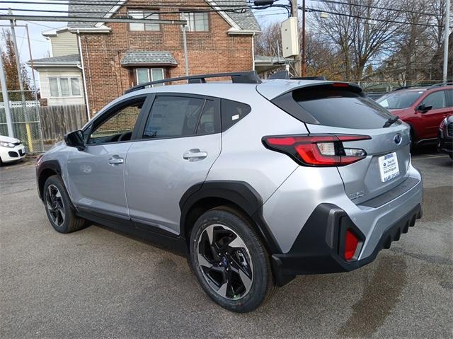
[[[127,13],[134,2],[118,13]],[[168,0],[161,1],[165,3]],[[170,1],[168,1],[170,3]],[[197,1],[190,1],[195,4]],[[173,2],[174,4],[174,2]],[[205,1],[199,1],[206,7]],[[183,8],[183,7],[182,7]],[[180,8],[162,7],[161,11]],[[178,14],[161,14],[161,19],[179,20]],[[190,74],[248,71],[253,67],[251,35],[227,35],[231,26],[219,13],[209,13],[208,32],[187,32]],[[82,53],[86,73],[86,86],[91,113],[95,113],[125,89],[135,84],[134,69],[122,67],[121,59],[127,50],[167,50],[178,62],[167,67],[166,77],[185,75],[183,35],[179,25],[160,25],[160,31],[130,31],[127,23],[108,23],[108,34],[81,33]]]

